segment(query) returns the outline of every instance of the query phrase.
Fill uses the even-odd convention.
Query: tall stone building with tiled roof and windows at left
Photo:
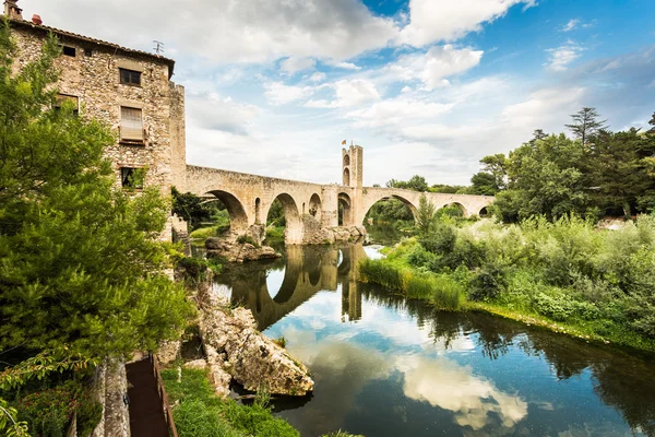
[[[14,68],[36,59],[50,33],[62,45],[59,101],[116,133],[106,149],[116,184],[170,193],[186,169],[184,90],[170,81],[175,61],[46,26],[38,15],[25,21],[17,0],[4,1],[4,14],[17,46]]]

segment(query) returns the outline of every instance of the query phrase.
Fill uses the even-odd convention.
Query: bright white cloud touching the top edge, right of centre
[[[503,16],[514,4],[536,5],[534,0],[409,0],[409,24],[396,39],[398,44],[421,47],[439,40],[454,40],[481,24]]]

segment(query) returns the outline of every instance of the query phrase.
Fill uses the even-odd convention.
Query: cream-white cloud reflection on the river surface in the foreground
[[[409,356],[401,362],[405,367],[405,395],[454,412],[461,426],[481,429],[491,420],[489,413],[496,413],[502,426],[511,428],[527,415],[527,402],[499,391],[450,359]]]

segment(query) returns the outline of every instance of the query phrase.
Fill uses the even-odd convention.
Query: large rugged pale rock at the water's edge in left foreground
[[[212,296],[201,310],[200,332],[205,350],[212,352],[207,353],[212,371],[219,365],[252,391],[265,389],[271,394],[305,395],[313,390],[307,367],[259,332],[250,310],[228,308],[227,302]]]

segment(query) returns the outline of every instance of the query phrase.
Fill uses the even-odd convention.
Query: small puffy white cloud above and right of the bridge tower
[[[434,46],[426,54],[404,55],[384,68],[386,74],[400,81],[420,80],[426,90],[446,86],[446,78],[477,66],[484,51],[471,47],[456,49],[452,45]]]

